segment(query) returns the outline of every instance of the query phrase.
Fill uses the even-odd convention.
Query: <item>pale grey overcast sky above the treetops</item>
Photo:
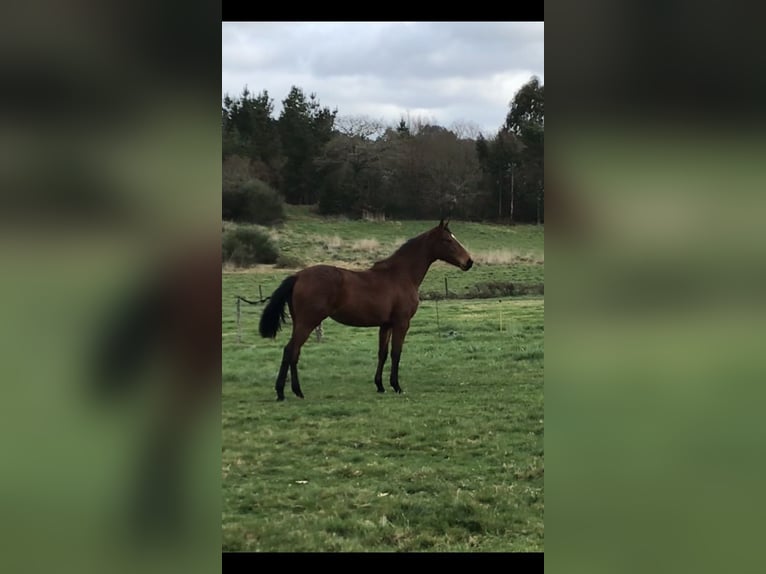
[[[338,116],[421,118],[494,134],[535,75],[543,22],[223,23],[222,91],[268,90],[275,116],[290,87]]]

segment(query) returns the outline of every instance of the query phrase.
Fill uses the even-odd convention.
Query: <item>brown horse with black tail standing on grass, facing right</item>
[[[311,332],[330,317],[344,325],[379,327],[378,369],[375,386],[383,388],[383,365],[391,341],[391,387],[401,393],[399,359],[410,319],[418,309],[418,287],[437,259],[468,271],[473,260],[449,230],[444,220],[430,231],[407,241],[389,258],[367,271],[350,271],[331,265],[314,265],[285,279],[277,287],[261,315],[261,336],[274,338],[290,309],[293,334],[285,345],[277,375],[277,400],[285,399],[285,380],[290,369],[290,387],[303,398],[298,382],[301,347]]]

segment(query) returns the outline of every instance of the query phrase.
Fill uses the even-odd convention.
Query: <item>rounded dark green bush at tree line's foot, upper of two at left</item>
[[[222,215],[230,221],[272,225],[285,220],[285,205],[268,184],[250,179],[224,188]]]

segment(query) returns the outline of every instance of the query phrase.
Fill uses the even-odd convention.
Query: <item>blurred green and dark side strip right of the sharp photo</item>
[[[736,3],[546,8],[546,566],[755,571],[758,32]]]

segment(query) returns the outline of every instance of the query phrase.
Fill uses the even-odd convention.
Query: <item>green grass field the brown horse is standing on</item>
[[[298,214],[279,234],[314,263],[332,259],[312,253],[309,238],[338,236],[346,255],[355,242],[385,246],[429,225]],[[452,227],[474,257],[530,254],[542,280],[542,230]],[[375,244],[357,247],[368,256]],[[498,280],[518,272],[488,262],[442,273],[453,290],[461,276],[468,287],[481,280],[482,268]],[[306,399],[288,385],[277,403],[289,327],[262,339],[262,307],[245,305],[238,343],[234,296],[257,297],[260,283],[268,295],[287,274],[223,273],[223,550],[542,551],[543,299],[423,301],[402,354],[403,395],[388,387],[390,363],[388,392],[375,392],[377,329],[328,320],[323,340],[312,336],[301,353]]]

